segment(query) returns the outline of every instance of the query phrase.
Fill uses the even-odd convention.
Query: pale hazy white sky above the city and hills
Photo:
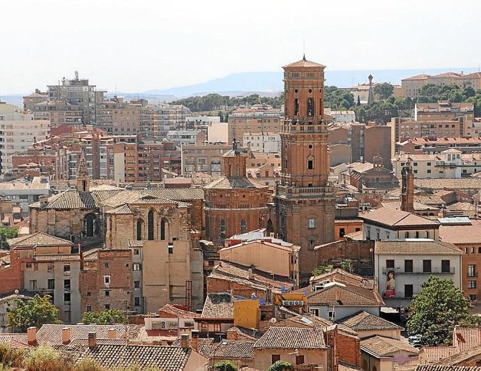
[[[481,65],[479,0],[0,0],[0,93],[167,89],[303,54],[332,70]]]

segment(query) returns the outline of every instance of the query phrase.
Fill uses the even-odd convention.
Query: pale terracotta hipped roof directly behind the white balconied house
[[[430,227],[435,227],[439,225],[435,220],[423,218],[422,216],[408,213],[407,211],[393,210],[385,207],[359,215],[359,218],[366,223],[374,222],[381,225],[388,225],[389,227],[406,227],[411,225],[429,225]]]

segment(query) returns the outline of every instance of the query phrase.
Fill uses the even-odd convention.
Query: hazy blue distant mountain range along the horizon
[[[369,73],[374,76],[374,82],[390,82],[401,84],[401,80],[421,73],[437,75],[448,70],[457,73],[472,73],[478,68],[413,68],[405,70],[326,70],[326,84],[346,88],[367,82]],[[170,89],[153,89],[141,93],[117,93],[126,99],[146,98],[150,102],[176,100],[188,96],[204,96],[208,93],[219,93],[224,96],[247,96],[257,93],[261,96],[275,96],[284,89],[282,72],[243,72],[231,73],[225,77],[211,79],[200,84],[176,86]],[[28,94],[28,93],[26,93]],[[26,94],[11,94],[0,96],[0,100],[13,105],[22,106],[22,96]],[[112,96],[109,93],[108,96]]]

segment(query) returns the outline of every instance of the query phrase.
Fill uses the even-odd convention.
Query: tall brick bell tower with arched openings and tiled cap
[[[283,68],[281,181],[270,222],[280,238],[300,245],[300,275],[308,280],[317,266],[314,246],[334,241],[335,194],[328,183],[328,130],[323,120],[325,66],[304,57]]]

